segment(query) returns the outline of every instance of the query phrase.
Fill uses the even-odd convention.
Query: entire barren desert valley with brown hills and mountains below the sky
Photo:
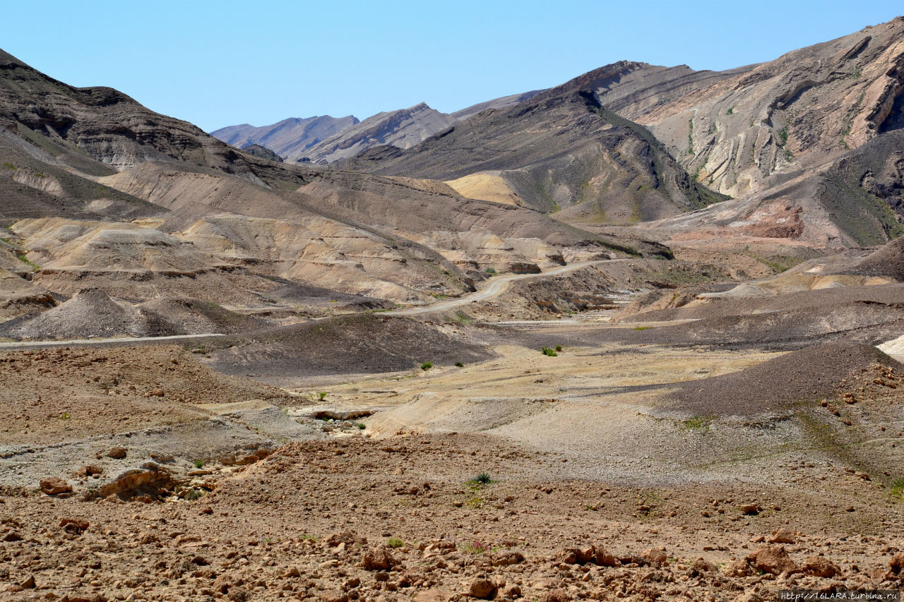
[[[207,134],[0,51],[0,599],[904,588],[904,18]]]

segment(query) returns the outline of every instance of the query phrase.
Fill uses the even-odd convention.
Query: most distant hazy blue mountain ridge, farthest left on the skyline
[[[211,132],[228,145],[244,150],[259,145],[286,159],[298,159],[304,151],[330,136],[334,136],[358,123],[349,115],[332,118],[329,115],[313,118],[288,118],[271,126],[254,127],[247,123],[240,126],[221,127]]]

